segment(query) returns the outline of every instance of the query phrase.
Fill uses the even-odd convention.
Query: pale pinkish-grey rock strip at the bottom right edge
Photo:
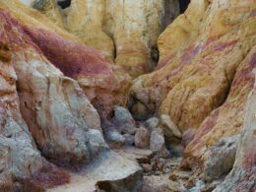
[[[255,55],[254,55],[255,56]],[[256,92],[250,94],[232,170],[214,191],[256,190]]]

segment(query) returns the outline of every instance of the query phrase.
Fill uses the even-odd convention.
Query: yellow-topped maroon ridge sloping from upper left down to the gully
[[[51,1],[40,3],[47,2]],[[6,6],[11,8],[12,3]],[[115,104],[126,103],[131,80],[118,66],[111,65],[99,51],[86,46],[80,38],[61,30],[38,12],[21,4],[12,9],[16,16],[18,10],[26,12],[22,18],[19,16],[26,24],[25,32],[55,67],[78,81],[101,118],[108,117]]]

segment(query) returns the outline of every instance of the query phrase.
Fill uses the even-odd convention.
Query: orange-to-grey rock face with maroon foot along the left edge
[[[43,190],[64,184],[68,174],[41,157],[21,115],[17,75],[4,34],[0,34],[0,191],[23,191],[25,186]]]

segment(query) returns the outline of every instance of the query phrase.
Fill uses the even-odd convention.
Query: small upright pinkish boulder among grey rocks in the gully
[[[140,127],[135,134],[134,143],[138,148],[146,148],[150,146],[150,132],[145,127]]]

